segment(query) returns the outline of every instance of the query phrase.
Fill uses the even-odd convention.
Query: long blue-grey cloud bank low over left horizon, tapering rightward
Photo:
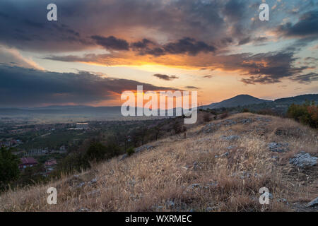
[[[143,85],[143,90],[171,90],[128,79],[100,77],[87,71],[55,73],[0,65],[0,106],[85,105],[114,99],[113,93],[136,90],[137,85]]]

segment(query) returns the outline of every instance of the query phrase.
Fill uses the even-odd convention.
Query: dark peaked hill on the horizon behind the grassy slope
[[[213,103],[211,105],[204,106],[204,109],[215,109],[220,107],[237,107],[237,106],[245,106],[245,105],[254,105],[260,104],[263,102],[273,102],[271,100],[263,100],[257,97],[252,97],[251,95],[237,95],[228,100],[223,100],[218,103]]]

